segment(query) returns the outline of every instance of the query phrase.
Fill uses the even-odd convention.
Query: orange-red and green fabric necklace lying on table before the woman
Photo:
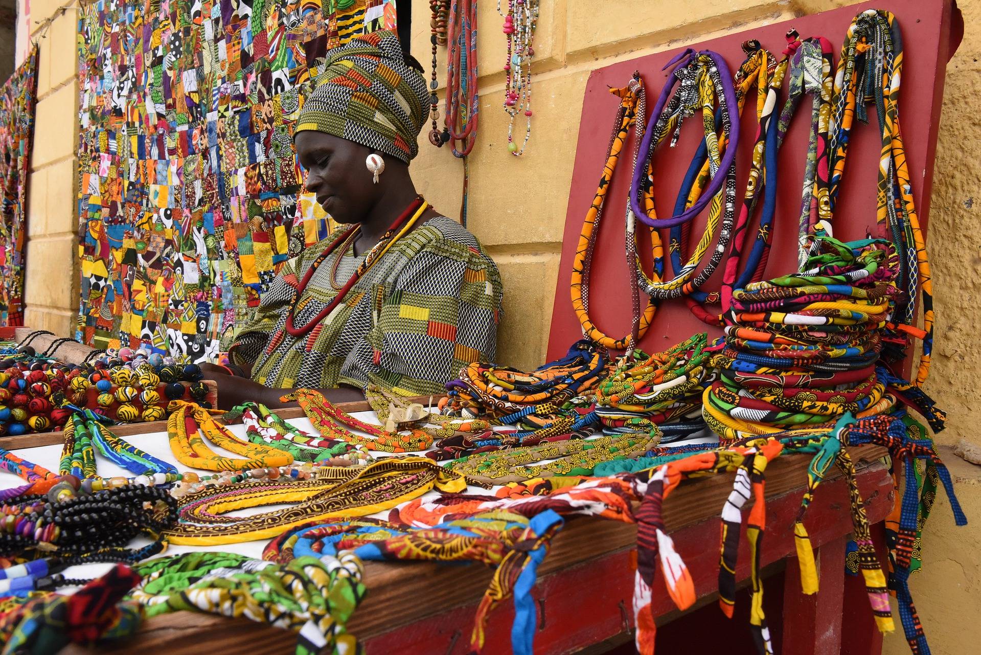
[[[310,423],[320,430],[321,434],[332,435],[347,443],[357,444],[369,450],[382,450],[389,453],[404,453],[413,450],[425,450],[433,444],[433,437],[422,429],[402,432],[388,432],[378,426],[372,426],[358,421],[350,414],[343,412],[331,404],[322,393],[313,389],[295,389],[285,394],[281,399],[295,400],[310,419]],[[341,428],[359,429],[374,438],[368,438]]]

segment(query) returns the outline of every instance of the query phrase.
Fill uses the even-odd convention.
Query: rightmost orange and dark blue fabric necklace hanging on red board
[[[922,385],[930,373],[933,351],[933,281],[926,240],[913,202],[912,185],[900,129],[900,79],[903,71],[903,37],[896,17],[890,12],[868,10],[849,25],[842,46],[842,58],[835,74],[834,130],[831,134],[833,162],[829,184],[832,209],[838,200],[846,155],[855,115],[866,121],[866,104],[875,102],[876,118],[882,135],[879,157],[878,206],[876,222],[889,234],[901,253],[898,286],[904,298],[898,300],[897,323],[911,326],[917,293],[923,311],[923,352],[916,384]],[[904,330],[907,331],[907,330]],[[891,362],[905,359],[908,339],[895,333],[891,341],[901,344],[899,352],[887,348],[884,357]]]

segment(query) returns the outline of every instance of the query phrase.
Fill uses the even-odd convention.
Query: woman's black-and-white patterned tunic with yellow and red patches
[[[396,241],[305,336],[286,332],[299,280],[341,234],[284,265],[253,320],[239,330],[232,362],[252,364],[252,378],[270,387],[374,383],[414,395],[440,393],[467,364],[493,361],[500,275],[476,237],[444,217]],[[326,307],[363,257],[352,247],[332,253],[311,277],[293,324],[306,326]]]

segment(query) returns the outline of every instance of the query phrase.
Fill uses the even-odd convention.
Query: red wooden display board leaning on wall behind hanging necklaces
[[[903,128],[913,197],[920,223],[925,228],[929,215],[933,160],[944,93],[944,74],[950,55],[954,53],[959,43],[959,30],[962,29],[959,19],[952,21],[955,12],[952,11],[951,0],[865,2],[785,23],[757,27],[710,41],[685,44],[672,50],[597,69],[587,82],[586,97],[583,102],[579,145],[576,149],[576,164],[569,191],[569,209],[562,243],[562,259],[548,335],[549,360],[565,354],[573,341],[582,338],[582,327],[572,310],[569,283],[580,229],[586,212],[593,202],[596,183],[605,162],[613,116],[618,106],[618,98],[609,93],[607,87],[625,86],[633,72],[640,71],[644,76],[649,112],[652,111],[661,87],[667,80],[668,73],[662,72],[661,69],[686,47],[718,52],[735,73],[745,59],[741,47],[743,41],[756,38],[764,48],[769,49],[779,59],[786,47],[784,34],[791,27],[800,32],[801,38],[824,36],[830,40],[835,51],[837,66],[842,42],[845,40],[852,18],[859,11],[872,8],[893,12],[903,31],[904,69],[900,96],[900,123]],[[956,25],[953,30],[952,24]],[[781,94],[778,107],[782,106],[785,95],[785,93]],[[748,110],[751,110],[751,106]],[[875,216],[881,135],[875,122],[874,106],[870,108],[869,114],[869,125],[863,126],[856,120],[852,127],[852,145],[849,149],[848,164],[833,222],[835,236],[838,238],[854,239],[862,238],[866,234],[879,234]],[[741,127],[737,159],[737,189],[738,197],[742,199],[749,173],[753,134],[756,131],[756,117],[753,111],[744,112]],[[807,96],[801,101],[798,113],[780,150],[773,245],[766,277],[786,275],[797,269],[800,181],[803,176],[809,129],[810,97]],[[674,149],[669,148],[665,143],[655,151],[654,198],[659,217],[666,218],[671,214],[679,185],[695,154],[700,131],[700,120],[695,118],[688,121],[684,124],[681,139]],[[630,329],[630,291],[627,286],[628,269],[624,255],[624,212],[632,174],[630,153],[633,152],[633,147],[632,131],[631,141],[624,148],[624,154],[620,158],[614,180],[607,193],[590,283],[592,290],[590,316],[597,327],[617,338],[622,337]],[[762,200],[757,206],[757,219],[761,205]],[[695,220],[694,234],[701,233],[707,213],[706,209]],[[755,225],[756,221],[753,221],[753,230]],[[646,227],[640,222],[638,226],[641,248],[643,250],[646,243],[646,249],[649,251]],[[754,231],[749,232],[747,252],[754,233]],[[666,230],[662,236],[664,242],[667,242]],[[646,270],[649,271],[649,257],[647,260]],[[709,279],[703,287],[705,290],[719,287],[722,268],[720,266],[716,275]],[[668,275],[668,272],[670,272],[670,263],[666,264],[665,276],[673,277],[673,274]],[[642,292],[642,303],[644,299]],[[706,329],[712,336],[721,333],[719,329],[707,327],[698,321],[689,311],[684,300],[662,302],[653,325],[641,339],[640,345],[648,352],[659,351]]]

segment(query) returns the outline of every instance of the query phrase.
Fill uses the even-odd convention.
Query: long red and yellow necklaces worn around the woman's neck
[[[419,217],[421,217],[428,208],[429,203],[423,200],[422,196],[419,196],[413,200],[405,211],[402,212],[388,227],[379,242],[368,251],[368,254],[365,255],[364,261],[358,266],[357,270],[354,272],[354,275],[352,275],[350,279],[348,279],[347,282],[340,288],[340,290],[337,291],[336,296],[334,296],[334,299],[328,303],[327,307],[318,312],[317,315],[310,319],[305,326],[295,327],[293,325],[293,317],[296,315],[296,312],[302,309],[303,304],[305,304],[303,294],[304,291],[306,291],[307,284],[310,283],[310,278],[317,272],[320,265],[324,263],[324,260],[326,260],[331,253],[336,250],[337,246],[340,243],[345,242],[348,238],[351,238],[354,232],[360,230],[361,226],[357,225],[351,227],[343,234],[343,236],[338,237],[335,241],[332,241],[331,244],[324,249],[324,252],[317,256],[317,259],[313,261],[310,268],[307,269],[306,274],[302,277],[302,279],[300,279],[299,284],[296,286],[296,295],[293,297],[293,302],[289,307],[289,313],[286,315],[285,330],[291,336],[300,337],[305,336],[314,327],[320,325],[324,319],[330,316],[330,314],[340,306],[340,302],[344,299],[344,296],[347,295],[347,292],[351,290],[351,287],[354,286],[354,283],[364,276],[364,274],[367,273],[368,270],[371,269],[380,259],[382,259],[383,256],[385,256],[388,249],[415,225],[415,223],[419,220]],[[340,255],[338,255],[338,257],[339,256]],[[271,340],[271,342],[275,343],[275,339]]]

